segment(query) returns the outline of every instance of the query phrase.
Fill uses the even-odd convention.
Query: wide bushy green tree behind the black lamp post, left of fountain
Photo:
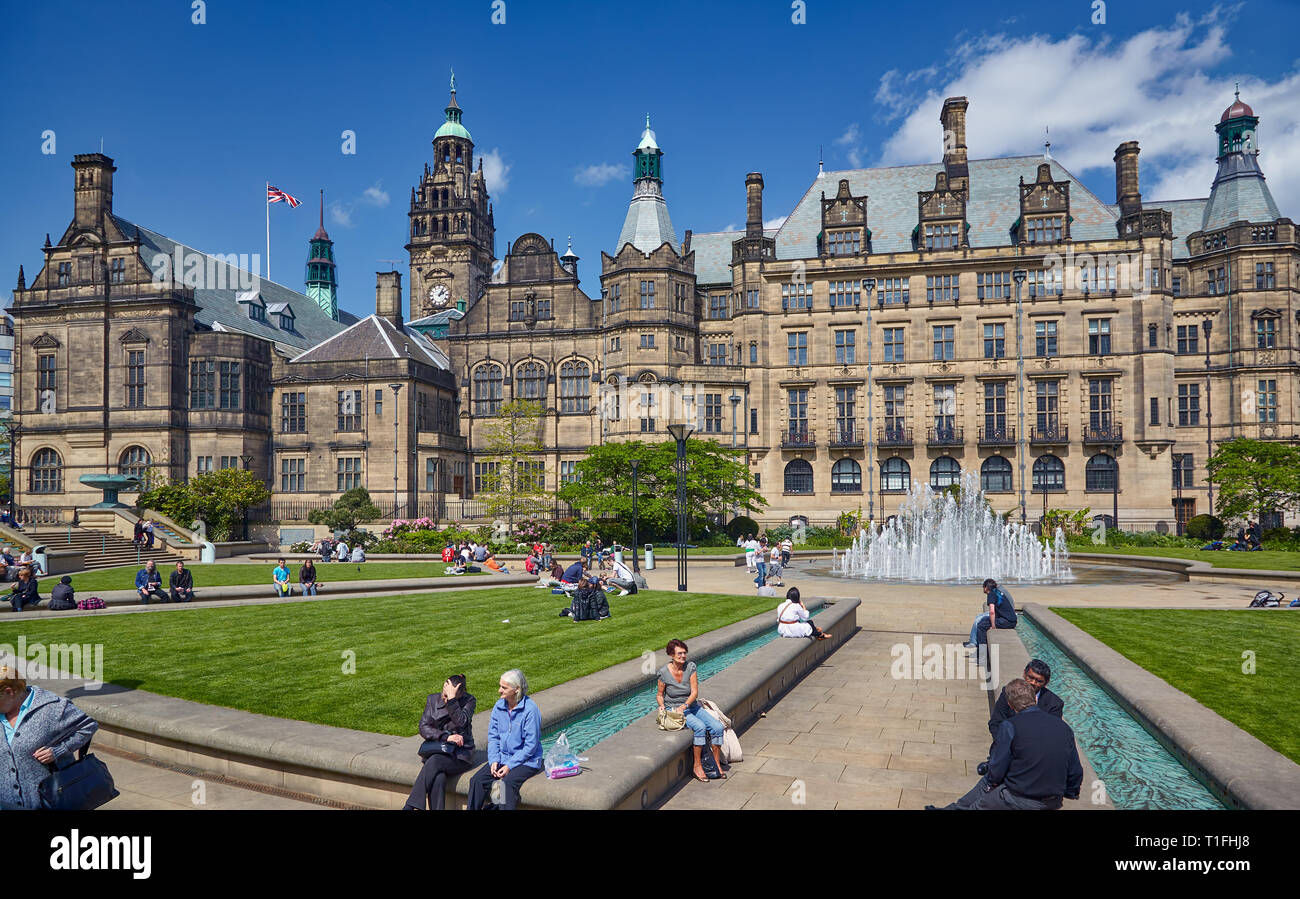
[[[593,514],[632,517],[632,460],[637,469],[637,517],[654,530],[670,530],[677,514],[677,443],[606,443],[577,464],[578,479],[559,498]],[[732,508],[758,512],[767,500],[753,487],[744,449],[718,440],[686,440],[686,509],[693,525]]]

